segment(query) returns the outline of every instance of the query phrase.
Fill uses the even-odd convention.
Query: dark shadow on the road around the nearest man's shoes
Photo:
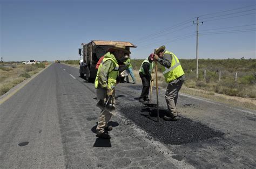
[[[113,121],[110,121],[108,124],[112,125],[113,128],[119,125],[119,123],[113,122]],[[96,131],[97,125],[98,125],[98,122],[96,123],[95,126],[92,127],[91,129],[92,132],[94,133],[97,132]],[[95,140],[95,143],[93,144],[93,147],[111,147],[111,141],[110,139],[103,139],[103,138],[97,137]]]

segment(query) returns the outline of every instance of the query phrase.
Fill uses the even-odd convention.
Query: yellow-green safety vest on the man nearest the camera
[[[109,53],[107,53],[107,54],[109,54]],[[96,79],[95,79],[95,88],[96,89],[99,86],[98,74],[100,72],[100,69],[102,68],[102,65],[104,64],[104,62],[106,60],[111,60],[114,63],[114,69],[109,73],[109,75],[107,77],[107,88],[112,90],[117,84],[117,77],[119,76],[119,71],[118,71],[119,65],[117,63],[117,60],[116,60],[116,58],[104,58],[102,60],[102,62],[100,63],[97,74],[96,74]]]

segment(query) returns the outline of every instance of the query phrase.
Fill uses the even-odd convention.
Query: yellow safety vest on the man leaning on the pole
[[[170,83],[171,81],[179,78],[180,76],[184,75],[184,71],[180,65],[179,59],[176,57],[175,54],[169,51],[165,51],[164,54],[171,54],[172,55],[172,63],[171,67],[167,68],[164,67],[163,74],[165,77],[165,81]]]

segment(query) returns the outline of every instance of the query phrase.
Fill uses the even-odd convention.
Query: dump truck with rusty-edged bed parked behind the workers
[[[93,82],[97,74],[96,64],[98,60],[116,43],[124,44],[128,51],[131,47],[137,47],[126,41],[92,40],[87,44],[82,43],[82,48],[78,49],[78,54],[82,57],[79,61],[80,77],[85,78],[88,82]],[[130,54],[128,56],[130,58]],[[124,69],[124,66],[120,66],[119,71],[124,71]]]

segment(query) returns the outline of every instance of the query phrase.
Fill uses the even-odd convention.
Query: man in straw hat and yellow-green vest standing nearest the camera
[[[125,53],[130,53],[125,46],[120,43],[109,49],[100,63],[95,79],[95,88],[97,89],[97,107],[102,109],[99,115],[97,125],[97,137],[110,139],[108,131],[112,126],[108,122],[112,115],[116,115],[116,104],[114,102],[114,87],[117,85],[119,76],[118,62],[124,61]]]

